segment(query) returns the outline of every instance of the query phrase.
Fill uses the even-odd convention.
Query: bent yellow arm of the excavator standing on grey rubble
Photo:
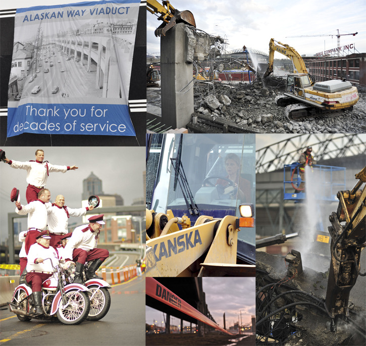
[[[277,42],[278,44],[276,44]],[[273,38],[270,40],[270,56],[268,60],[268,68],[264,74],[264,77],[267,77],[273,72],[273,60],[275,52],[279,52],[290,58],[292,61],[292,65],[294,68],[294,73],[306,73],[308,74],[305,63],[302,60],[301,56],[296,52],[295,48],[290,47],[288,44],[281,43],[279,41],[275,41]]]

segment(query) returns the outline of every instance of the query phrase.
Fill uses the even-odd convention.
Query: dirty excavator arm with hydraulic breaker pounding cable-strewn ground
[[[331,265],[325,306],[330,317],[349,315],[349,293],[360,273],[360,255],[366,240],[366,167],[355,175],[358,179],[352,190],[339,191],[337,212],[329,217],[332,237]],[[345,222],[345,226],[341,225]]]

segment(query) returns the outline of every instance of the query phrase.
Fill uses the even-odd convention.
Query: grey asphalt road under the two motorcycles
[[[111,308],[104,318],[76,326],[64,325],[59,320],[21,322],[8,307],[2,307],[0,343],[6,346],[144,345],[145,276],[114,285],[110,294]]]

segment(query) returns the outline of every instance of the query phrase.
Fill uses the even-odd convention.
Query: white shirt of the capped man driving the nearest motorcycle
[[[42,263],[35,263],[37,258],[43,259]],[[57,250],[52,246],[46,248],[45,246],[34,243],[30,248],[27,255],[27,272],[29,273],[32,270],[40,270],[45,272],[53,272],[54,269],[51,266],[51,262],[49,260],[45,261],[46,258],[50,258],[54,266],[59,264],[59,256]]]

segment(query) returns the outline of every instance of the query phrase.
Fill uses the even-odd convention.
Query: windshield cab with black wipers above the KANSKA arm
[[[146,166],[156,174],[151,197],[147,197],[148,209],[164,214],[172,210],[179,217],[187,214],[193,224],[200,215],[240,217],[240,204],[255,203],[254,135],[167,134],[159,146],[155,152],[150,149]],[[156,158],[153,163],[153,156],[159,156],[159,161]],[[228,163],[238,169],[234,182],[229,178]],[[239,237],[255,243],[244,232],[239,232]]]

